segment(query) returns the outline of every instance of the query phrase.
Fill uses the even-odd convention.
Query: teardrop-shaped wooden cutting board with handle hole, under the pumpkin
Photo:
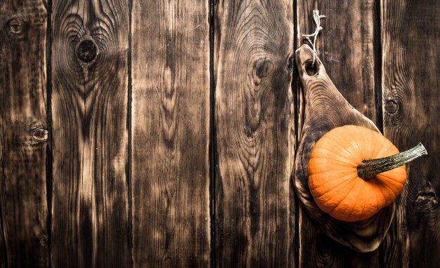
[[[378,248],[394,217],[394,205],[380,210],[368,220],[343,222],[324,213],[309,191],[307,165],[313,145],[332,128],[344,125],[365,126],[377,130],[373,121],[358,112],[337,91],[329,79],[323,63],[316,58],[316,74],[309,75],[306,69],[311,65],[313,51],[303,45],[295,52],[299,80],[304,91],[304,126],[295,160],[295,189],[299,200],[317,226],[342,245],[361,253]]]

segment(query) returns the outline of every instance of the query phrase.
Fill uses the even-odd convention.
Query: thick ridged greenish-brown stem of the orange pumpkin
[[[424,154],[428,153],[420,142],[417,146],[399,154],[380,159],[364,159],[357,167],[358,176],[363,180],[370,180],[377,174],[402,166]]]

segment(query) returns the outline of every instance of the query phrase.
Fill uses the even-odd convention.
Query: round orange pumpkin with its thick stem
[[[389,206],[406,182],[405,163],[427,154],[418,146],[399,150],[377,131],[341,126],[313,146],[309,189],[321,210],[337,220],[355,222]]]

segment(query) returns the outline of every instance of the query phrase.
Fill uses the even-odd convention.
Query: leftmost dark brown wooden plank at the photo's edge
[[[0,25],[0,267],[47,267],[43,1],[1,1]]]

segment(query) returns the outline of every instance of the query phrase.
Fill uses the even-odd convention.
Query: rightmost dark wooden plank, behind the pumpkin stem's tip
[[[422,142],[428,156],[411,162],[386,267],[440,267],[440,5],[382,0],[384,135],[401,150]]]

